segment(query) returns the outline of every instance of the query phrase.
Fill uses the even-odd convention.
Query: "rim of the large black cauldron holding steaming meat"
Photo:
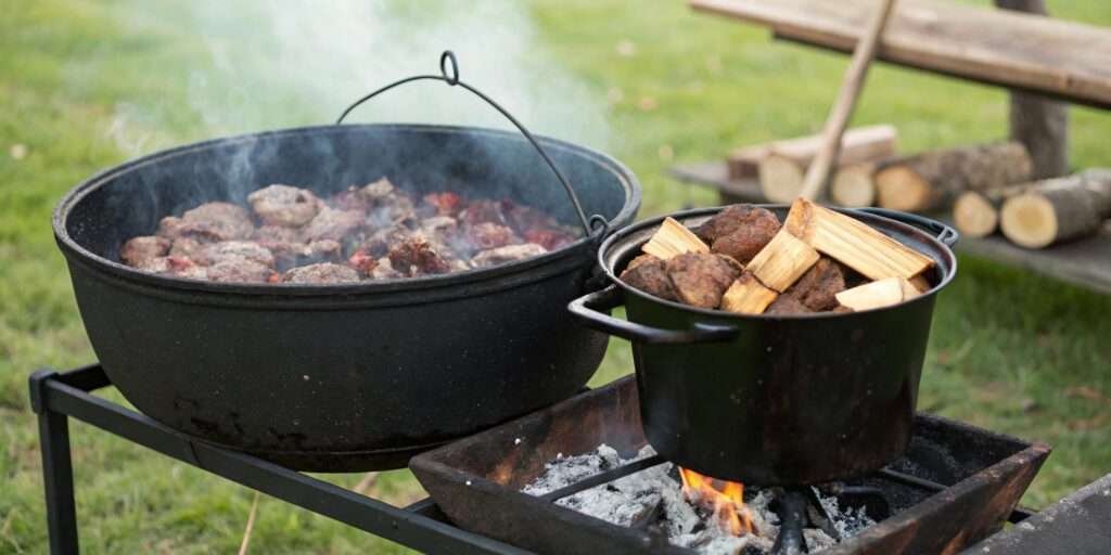
[[[198,154],[216,148],[250,144],[259,140],[284,137],[327,137],[330,134],[352,134],[363,131],[396,131],[424,134],[467,134],[483,140],[512,141],[526,143],[516,133],[462,125],[433,124],[344,124],[313,125],[248,133],[228,138],[171,148],[148,154],[123,164],[103,170],[69,191],[58,203],[52,216],[54,239],[62,253],[71,263],[77,263],[100,278],[111,280],[122,286],[141,290],[148,294],[166,296],[184,302],[213,302],[218,304],[242,304],[247,306],[272,305],[276,302],[291,302],[299,297],[312,303],[313,297],[338,296],[349,300],[372,301],[373,297],[391,296],[392,303],[429,302],[482,294],[506,286],[523,285],[560,273],[567,273],[584,265],[590,260],[600,236],[583,236],[561,249],[532,259],[502,264],[489,269],[467,270],[443,275],[421,276],[401,280],[382,280],[357,284],[247,284],[217,283],[183,278],[171,278],[141,272],[117,261],[100,256],[79,244],[69,233],[69,216],[89,194],[109,186],[113,180],[153,164],[164,163],[173,158]],[[558,139],[537,135],[544,149],[565,157],[584,159],[609,172],[624,193],[621,209],[609,219],[609,229],[617,229],[632,221],[640,208],[641,191],[637,176],[618,160],[583,147]],[[500,280],[507,278],[507,280]],[[470,286],[461,286],[470,285]],[[477,290],[476,290],[477,287]],[[407,295],[406,293],[412,293]],[[381,301],[381,299],[379,299]],[[347,303],[344,303],[347,305]]]

